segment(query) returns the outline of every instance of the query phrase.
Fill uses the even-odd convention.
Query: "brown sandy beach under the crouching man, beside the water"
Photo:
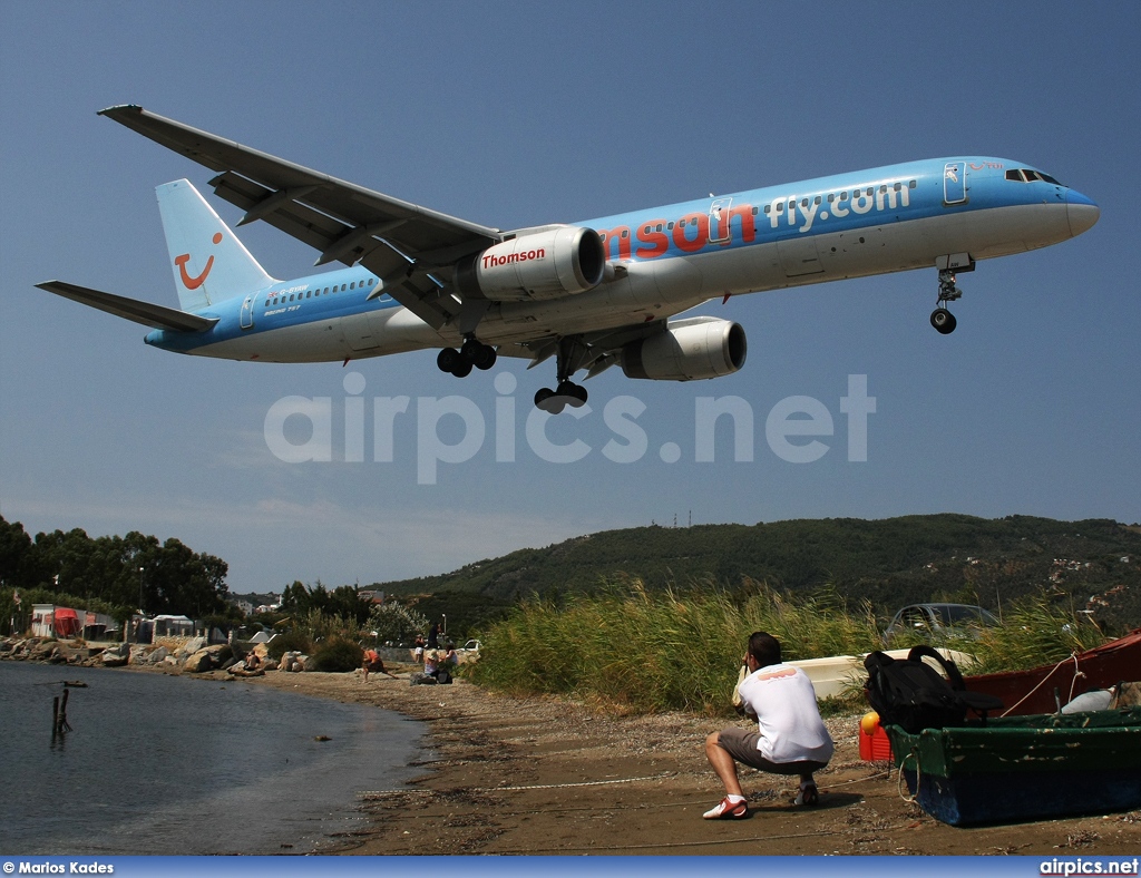
[[[225,677],[225,674],[219,674]],[[820,805],[795,780],[742,773],[752,815],[706,821],[722,790],[703,751],[726,723],[687,714],[617,716],[553,698],[511,698],[459,680],[411,686],[357,674],[242,681],[421,720],[430,747],[406,788],[363,790],[359,829],[327,854],[1034,854],[1133,855],[1141,813],[955,828],[905,802],[888,763],[861,762],[858,717],[828,721],[836,742],[817,774]],[[235,681],[237,682],[237,681]],[[906,791],[906,790],[905,790]]]

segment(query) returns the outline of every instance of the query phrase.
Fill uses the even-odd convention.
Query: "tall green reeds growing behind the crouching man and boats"
[[[764,583],[730,594],[713,583],[649,592],[638,579],[597,594],[531,600],[480,633],[475,682],[520,694],[567,694],[644,710],[725,714],[748,635],[767,631],[785,659],[882,649],[871,604],[834,593],[793,599]],[[972,673],[1031,667],[1103,641],[1045,597],[1009,608],[1005,624],[940,645],[971,653]],[[892,647],[906,645],[892,642]],[[470,668],[470,669],[469,669]],[[855,700],[859,700],[856,686]]]

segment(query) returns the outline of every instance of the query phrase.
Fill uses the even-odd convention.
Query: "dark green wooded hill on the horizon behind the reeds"
[[[958,514],[632,528],[374,587],[432,595],[422,599],[429,616],[447,608],[442,611],[450,620],[470,625],[520,597],[590,591],[634,577],[650,588],[712,582],[733,591],[752,579],[793,593],[833,590],[866,597],[885,618],[916,601],[995,610],[1046,593],[1093,610],[1099,623],[1117,631],[1141,625],[1141,528],[1102,519]]]

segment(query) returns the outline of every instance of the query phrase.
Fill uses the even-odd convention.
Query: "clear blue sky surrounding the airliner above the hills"
[[[442,572],[674,518],[1141,520],[1128,261],[1139,25],[1132,3],[9,0],[0,513],[33,534],[178,537],[226,559],[236,592]],[[1079,238],[962,276],[950,336],[928,324],[933,269],[711,302],[698,312],[745,326],[745,368],[688,384],[610,369],[589,382],[586,416],[548,430],[589,453],[550,463],[525,428],[550,364],[459,382],[430,352],[348,369],[180,357],[144,345],[140,326],[34,288],[60,278],[175,306],[154,187],[186,177],[237,219],[205,169],[96,116],[122,103],[500,228],[954,154],[1042,168],[1102,214]],[[316,254],[269,227],[242,238],[276,277],[311,270]],[[329,398],[343,441],[350,372],[370,415],[374,397],[412,399],[393,462],[274,456],[266,416],[291,395]],[[849,375],[866,375],[876,400],[866,462],[848,460]],[[487,438],[420,483],[418,418],[450,395],[475,404]],[[645,405],[647,453],[630,463],[602,452],[615,438],[602,412],[623,396]],[[698,399],[723,396],[754,414],[753,460],[735,461],[725,431],[715,461],[698,463]],[[766,441],[788,397],[833,420],[814,463]],[[513,421],[496,422],[510,400]],[[496,460],[497,423],[513,462]],[[436,428],[439,442],[462,439],[454,416]],[[675,462],[663,460],[669,444]]]

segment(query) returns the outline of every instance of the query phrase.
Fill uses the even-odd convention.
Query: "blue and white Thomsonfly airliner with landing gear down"
[[[270,277],[187,180],[157,187],[180,309],[60,281],[37,286],[149,326],[168,351],[268,363],[342,361],[439,349],[456,377],[499,356],[556,360],[551,414],[585,404],[573,381],[613,365],[690,381],[745,364],[744,328],[681,316],[743,293],[936,269],[931,325],[976,262],[1090,229],[1098,205],[1022,162],[952,156],[892,164],[585,222],[502,230],[329,177],[151,113],[99,112],[216,171],[215,194],[319,251]],[[529,366],[528,366],[529,368]]]

